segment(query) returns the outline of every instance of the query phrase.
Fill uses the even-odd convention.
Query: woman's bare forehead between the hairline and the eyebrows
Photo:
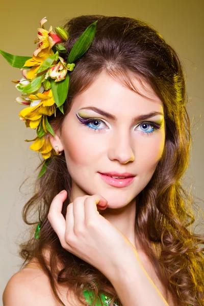
[[[101,72],[94,82],[84,92],[73,99],[74,111],[83,107],[103,108],[107,112],[115,114],[135,114],[140,112],[163,112],[163,103],[151,86],[136,77],[131,78],[136,90],[131,90],[117,77],[112,77],[105,71]],[[117,115],[116,115],[117,116]]]

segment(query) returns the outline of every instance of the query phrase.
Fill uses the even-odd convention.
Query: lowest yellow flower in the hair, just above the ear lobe
[[[53,146],[50,143],[49,138],[37,137],[34,143],[30,145],[30,149],[40,152],[44,159],[48,159],[51,156]]]

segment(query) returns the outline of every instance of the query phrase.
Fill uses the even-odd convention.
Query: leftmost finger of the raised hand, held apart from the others
[[[67,197],[66,190],[62,193],[58,193],[54,197],[47,215],[47,219],[49,220],[56,234],[58,235],[62,245],[65,242],[64,236],[66,229],[66,221],[64,216],[62,215],[62,206],[66,197]]]

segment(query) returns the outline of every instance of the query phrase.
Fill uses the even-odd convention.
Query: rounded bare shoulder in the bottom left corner
[[[15,273],[3,293],[4,306],[56,306],[49,280],[39,269],[22,269]]]

